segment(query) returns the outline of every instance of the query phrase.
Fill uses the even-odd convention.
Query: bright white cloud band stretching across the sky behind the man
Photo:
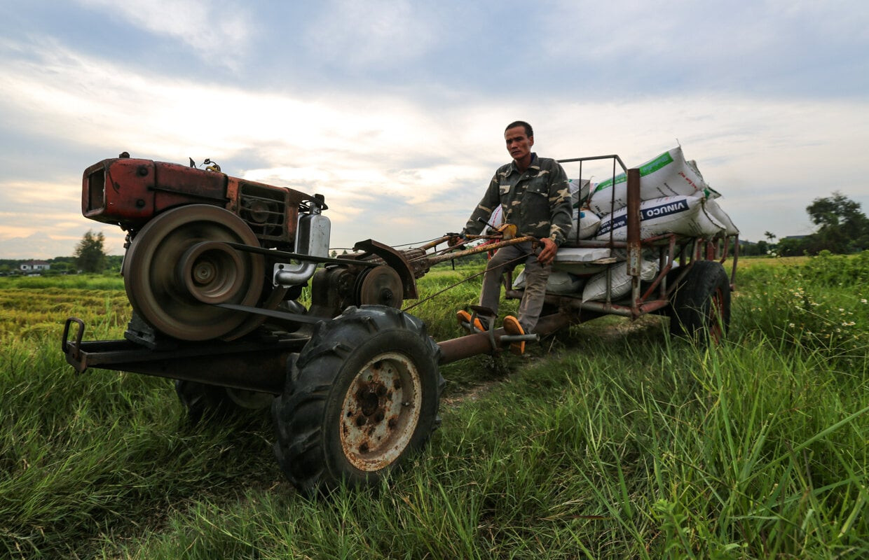
[[[805,233],[805,207],[817,196],[837,189],[866,193],[869,102],[689,94],[576,102],[563,89],[531,104],[493,97],[431,107],[352,90],[302,97],[172,80],[57,43],[43,48],[30,53],[33,62],[0,59],[6,142],[26,132],[96,159],[124,149],[162,161],[209,157],[230,175],[320,192],[335,221],[335,246],[369,237],[399,244],[461,228],[494,168],[507,160],[501,131],[517,116],[534,124],[535,148],[549,157],[616,153],[637,165],[678,138],[752,240],[766,230]],[[83,219],[73,221],[75,227],[63,223],[78,213],[81,172],[96,159],[53,169],[63,177],[56,183],[0,184],[4,194],[30,191],[27,201],[3,197],[7,211],[51,213],[30,224],[4,216],[3,225],[17,229],[0,230],[0,239],[37,229],[78,239],[99,226]],[[63,199],[69,215],[56,209],[53,197]],[[766,206],[771,209],[759,213]]]

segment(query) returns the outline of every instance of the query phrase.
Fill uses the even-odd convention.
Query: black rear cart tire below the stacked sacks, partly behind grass
[[[730,280],[721,263],[698,260],[673,295],[670,333],[718,344],[730,326]]]

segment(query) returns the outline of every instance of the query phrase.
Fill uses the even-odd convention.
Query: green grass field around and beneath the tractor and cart
[[[62,294],[0,286],[22,302],[0,305],[20,328],[0,354],[0,557],[867,557],[869,259],[823,258],[740,271],[731,336],[709,351],[658,318],[603,318],[500,370],[446,366],[430,447],[380,489],[317,500],[282,478],[266,415],[189,428],[163,379],[76,376],[59,334],[7,321],[59,325],[67,307],[40,307]],[[79,289],[89,337],[120,336],[123,290]],[[478,292],[412,313],[452,338]]]

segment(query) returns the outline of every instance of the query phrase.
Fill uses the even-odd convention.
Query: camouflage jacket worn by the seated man
[[[464,233],[479,234],[485,226],[479,219],[488,220],[499,204],[504,223],[515,224],[520,235],[548,237],[561,245],[570,233],[570,189],[558,161],[532,154],[524,173],[514,161],[498,168]]]

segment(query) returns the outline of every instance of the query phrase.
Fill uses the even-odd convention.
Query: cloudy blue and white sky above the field
[[[0,258],[123,253],[80,203],[122,151],[324,194],[333,247],[428,240],[516,119],[559,159],[680,144],[743,239],[869,212],[865,0],[7,0],[0,76]]]

